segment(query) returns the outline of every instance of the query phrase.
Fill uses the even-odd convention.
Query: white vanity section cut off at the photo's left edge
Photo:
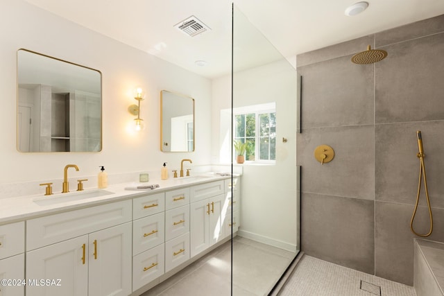
[[[23,296],[25,286],[12,281],[24,279],[24,222],[0,226],[0,279],[10,280],[0,285],[1,296]]]

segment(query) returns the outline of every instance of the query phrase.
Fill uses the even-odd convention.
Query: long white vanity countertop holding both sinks
[[[121,183],[113,184],[105,189],[85,189],[85,191],[76,191],[76,184],[71,185],[69,193],[54,193],[53,195],[27,195],[15,198],[3,198],[0,200],[0,224],[15,222],[18,220],[26,220],[35,218],[37,216],[45,216],[48,214],[58,213],[60,211],[70,211],[74,209],[81,209],[85,207],[92,207],[94,205],[105,204],[108,202],[117,202],[119,200],[126,200],[142,195],[154,194],[168,191],[171,189],[178,189],[184,186],[202,184],[216,180],[225,180],[230,178],[230,175],[216,175],[214,173],[205,173],[190,177],[169,178],[168,180],[150,180],[146,183]],[[135,187],[139,185],[159,184],[157,189],[148,190],[125,190],[126,187]],[[55,204],[40,205],[35,201],[56,198],[65,198],[70,195],[78,193],[87,193],[89,191],[104,190],[111,194],[97,196],[93,198],[83,198],[79,200],[67,200],[63,202],[56,202]]]

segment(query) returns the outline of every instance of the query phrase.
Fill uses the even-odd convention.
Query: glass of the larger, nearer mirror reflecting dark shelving
[[[19,49],[17,77],[17,150],[102,149],[100,71]]]

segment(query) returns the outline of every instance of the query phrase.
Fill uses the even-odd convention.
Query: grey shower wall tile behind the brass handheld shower
[[[420,161],[416,131],[422,134],[425,171],[433,207],[444,207],[444,121],[378,124],[375,127],[375,199],[414,204]],[[425,204],[424,183],[420,204]]]

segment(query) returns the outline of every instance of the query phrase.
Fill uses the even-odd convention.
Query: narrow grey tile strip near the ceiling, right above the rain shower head
[[[444,15],[376,33],[375,45],[380,47],[441,32],[444,32]]]

